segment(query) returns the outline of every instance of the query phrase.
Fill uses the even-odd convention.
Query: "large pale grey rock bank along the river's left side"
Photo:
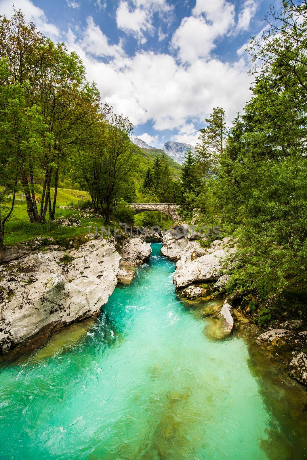
[[[148,260],[151,247],[129,238],[122,255],[115,238],[91,239],[65,250],[37,238],[7,247],[0,265],[0,353],[96,315],[131,267]],[[124,268],[125,265],[125,268]],[[130,267],[127,270],[126,267]]]

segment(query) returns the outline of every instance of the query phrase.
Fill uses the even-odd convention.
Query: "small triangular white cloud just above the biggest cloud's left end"
[[[123,55],[123,50],[120,45],[110,45],[108,37],[104,35],[98,25],[94,23],[93,17],[87,18],[87,27],[84,30],[83,39],[80,46],[84,51],[93,56],[113,56],[119,57]]]

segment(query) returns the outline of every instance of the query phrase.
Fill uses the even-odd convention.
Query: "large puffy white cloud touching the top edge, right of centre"
[[[225,0],[197,0],[192,14],[182,19],[171,42],[183,63],[209,57],[215,40],[234,26],[234,6]]]

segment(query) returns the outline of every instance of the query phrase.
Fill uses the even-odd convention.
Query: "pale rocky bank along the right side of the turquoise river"
[[[190,301],[221,296],[219,316],[223,320],[224,331],[220,337],[230,334],[233,328],[250,329],[252,318],[243,315],[240,308],[232,308],[232,300],[225,298],[226,283],[236,254],[235,242],[227,237],[215,240],[204,248],[196,241],[197,237],[197,233],[191,235],[185,224],[180,224],[173,236],[168,234],[163,237],[162,255],[176,261],[173,281],[176,291]],[[216,315],[216,311],[211,314]],[[266,354],[280,359],[284,371],[303,385],[307,385],[306,326],[301,320],[277,323],[262,334],[258,332],[255,338]]]

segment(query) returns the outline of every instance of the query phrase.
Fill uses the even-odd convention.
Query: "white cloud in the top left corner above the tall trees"
[[[13,8],[15,5],[16,10],[19,8],[23,11],[26,22],[32,21],[37,28],[43,33],[48,35],[52,40],[57,40],[60,36],[58,28],[48,22],[45,13],[41,8],[35,6],[30,0],[1,0],[0,1],[0,14],[6,17],[12,17]]]

